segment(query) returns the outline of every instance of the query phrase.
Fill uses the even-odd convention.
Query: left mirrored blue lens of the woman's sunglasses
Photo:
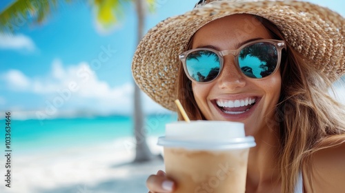
[[[212,81],[219,74],[219,57],[209,50],[197,50],[186,57],[186,67],[195,81]]]

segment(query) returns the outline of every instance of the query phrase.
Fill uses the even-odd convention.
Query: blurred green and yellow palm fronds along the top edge
[[[59,3],[87,0],[17,0],[0,12],[0,32],[13,33],[29,23],[42,23],[50,16],[52,10],[59,8]],[[97,21],[108,28],[125,15],[125,6],[135,0],[89,0],[95,8]],[[156,0],[146,0],[150,12],[155,10]]]

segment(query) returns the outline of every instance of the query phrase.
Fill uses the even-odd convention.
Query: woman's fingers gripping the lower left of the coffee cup
[[[172,192],[175,183],[166,177],[166,173],[159,170],[156,175],[150,175],[146,181],[149,193]]]

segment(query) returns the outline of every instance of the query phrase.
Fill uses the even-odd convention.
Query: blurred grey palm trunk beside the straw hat
[[[144,36],[144,2],[143,0],[135,0],[135,7],[137,8],[137,19],[138,19],[138,29],[137,29],[137,44]],[[135,84],[135,83],[134,83]],[[134,129],[135,129],[135,160],[134,162],[149,161],[152,159],[152,153],[148,148],[146,143],[146,132],[144,130],[144,113],[141,105],[141,93],[139,87],[135,84],[134,92]]]

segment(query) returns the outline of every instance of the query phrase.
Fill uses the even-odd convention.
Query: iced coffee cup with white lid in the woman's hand
[[[229,121],[177,121],[158,139],[166,174],[177,193],[242,193],[246,190],[249,148],[244,124]]]

